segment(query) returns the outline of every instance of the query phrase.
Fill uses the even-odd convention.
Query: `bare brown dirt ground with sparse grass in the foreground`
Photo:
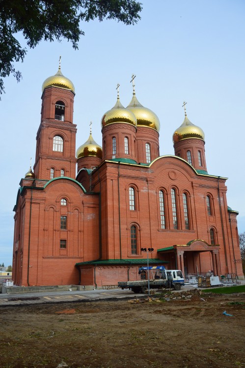
[[[244,368],[245,293],[176,295],[0,307],[0,368]]]

